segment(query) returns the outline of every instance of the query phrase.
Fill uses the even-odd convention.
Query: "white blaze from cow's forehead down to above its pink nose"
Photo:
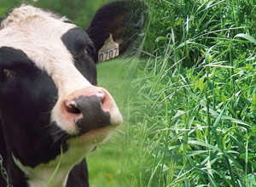
[[[89,84],[74,67],[73,56],[61,40],[75,27],[66,18],[40,8],[21,6],[2,21],[0,48],[22,50],[38,68],[48,72],[61,94],[69,94]]]

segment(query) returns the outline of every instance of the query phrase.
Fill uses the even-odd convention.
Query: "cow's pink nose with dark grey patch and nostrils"
[[[105,89],[89,87],[68,95],[62,114],[69,122],[75,123],[79,134],[84,134],[92,129],[116,125],[112,124],[113,107],[116,105]]]

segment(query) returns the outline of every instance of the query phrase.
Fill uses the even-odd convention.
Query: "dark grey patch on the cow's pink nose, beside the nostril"
[[[79,134],[84,134],[92,129],[110,125],[110,115],[108,111],[102,110],[101,97],[97,97],[96,95],[82,96],[73,101],[83,114],[83,118],[76,122],[79,127]]]

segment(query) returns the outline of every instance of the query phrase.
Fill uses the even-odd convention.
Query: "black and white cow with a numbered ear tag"
[[[89,186],[84,156],[122,123],[96,87],[97,53],[110,34],[125,41],[129,8],[109,3],[86,32],[29,5],[0,19],[1,187],[45,187],[59,163],[51,186]]]

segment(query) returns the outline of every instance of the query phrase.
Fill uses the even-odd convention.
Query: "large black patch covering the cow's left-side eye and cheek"
[[[4,70],[15,76],[5,77]],[[61,145],[67,150],[67,134],[49,119],[56,99],[57,88],[46,72],[21,50],[0,48],[0,135],[9,160],[14,154],[24,166],[36,167],[60,155]]]

